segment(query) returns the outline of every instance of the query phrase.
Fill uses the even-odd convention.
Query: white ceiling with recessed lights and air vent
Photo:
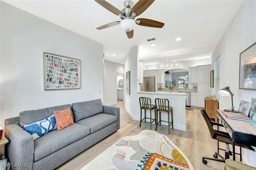
[[[4,2],[103,44],[105,59],[124,64],[132,46],[139,46],[145,65],[209,58],[242,1],[155,0],[137,18],[164,22],[163,28],[136,25],[128,39],[120,25],[96,30],[120,17],[94,0],[4,0]],[[123,0],[107,0],[122,10]],[[136,4],[138,0],[134,0]],[[137,19],[136,18],[136,19]],[[148,39],[156,40],[148,42]],[[175,41],[176,38],[182,38]],[[152,47],[151,44],[155,46]],[[116,56],[113,56],[113,55]],[[171,57],[172,56],[172,57]]]

